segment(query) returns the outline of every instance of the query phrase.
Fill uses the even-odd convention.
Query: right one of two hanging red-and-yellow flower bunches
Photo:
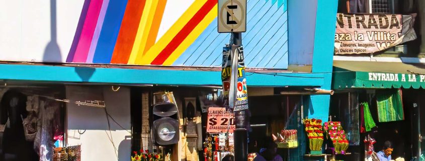
[[[325,122],[324,130],[326,131],[327,136],[332,140],[333,147],[335,148],[335,153],[345,153],[348,148],[349,142],[346,138],[345,131],[341,126],[341,122]]]

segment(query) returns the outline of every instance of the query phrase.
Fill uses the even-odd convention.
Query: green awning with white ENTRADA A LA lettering
[[[333,61],[333,89],[425,88],[425,64]]]

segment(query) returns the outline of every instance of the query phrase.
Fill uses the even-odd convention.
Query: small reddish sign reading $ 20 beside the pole
[[[233,132],[235,129],[235,118],[231,111],[223,107],[208,108],[207,132]]]

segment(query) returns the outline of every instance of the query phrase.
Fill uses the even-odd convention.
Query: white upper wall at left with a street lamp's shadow
[[[0,60],[65,62],[83,0],[1,2]]]

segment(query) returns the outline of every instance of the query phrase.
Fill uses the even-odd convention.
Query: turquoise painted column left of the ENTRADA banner
[[[322,89],[330,89],[332,81],[333,44],[338,1],[317,1],[313,49],[313,73],[325,73]],[[330,95],[311,95],[308,117],[327,121]]]

